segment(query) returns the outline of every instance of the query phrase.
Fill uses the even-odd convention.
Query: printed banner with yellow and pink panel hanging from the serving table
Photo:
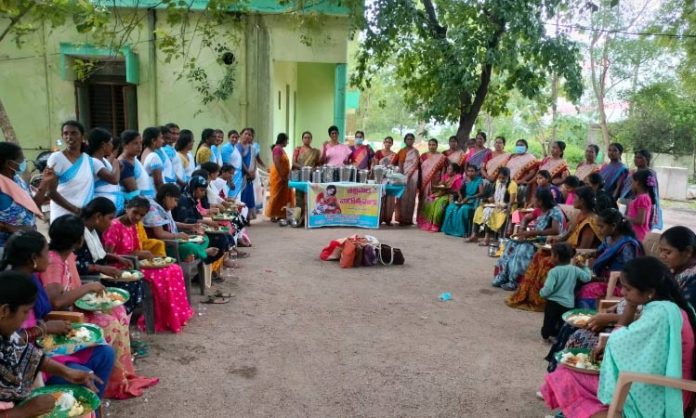
[[[379,228],[382,186],[362,183],[309,184],[307,227]]]

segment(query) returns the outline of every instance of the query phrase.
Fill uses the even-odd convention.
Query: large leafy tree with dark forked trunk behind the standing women
[[[579,49],[567,34],[550,36],[545,21],[564,0],[375,0],[352,83],[369,87],[394,65],[404,100],[421,120],[456,123],[469,137],[482,109],[505,107],[510,91],[534,97],[557,74],[573,101],[582,94]]]

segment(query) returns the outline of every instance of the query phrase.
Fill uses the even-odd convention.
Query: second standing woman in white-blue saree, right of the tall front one
[[[100,177],[94,182],[94,196],[106,197],[116,206],[117,213],[123,212],[125,199],[118,185],[121,164],[118,164],[117,156],[114,155],[114,145],[118,144],[114,144],[111,132],[103,128],[92,129],[87,135],[87,143],[87,154],[94,159]]]

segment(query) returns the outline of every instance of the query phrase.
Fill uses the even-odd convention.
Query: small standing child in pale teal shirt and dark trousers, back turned
[[[546,299],[544,324],[541,337],[549,341],[555,338],[563,325],[561,316],[575,306],[575,285],[578,280],[587,283],[592,278],[587,266],[577,267],[570,264],[575,250],[565,242],[554,244],[551,248],[551,263],[556,267],[549,270],[544,287],[539,296]]]

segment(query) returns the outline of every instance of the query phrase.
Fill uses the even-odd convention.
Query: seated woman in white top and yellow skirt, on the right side
[[[488,203],[495,206],[480,205],[474,213],[474,226],[471,228],[471,236],[468,242],[478,241],[477,234],[480,228],[485,229],[485,236],[481,246],[490,244],[490,234],[499,233],[505,226],[508,215],[517,206],[517,183],[510,179],[510,169],[500,167],[497,170],[498,179],[495,182],[493,196],[488,198]]]

